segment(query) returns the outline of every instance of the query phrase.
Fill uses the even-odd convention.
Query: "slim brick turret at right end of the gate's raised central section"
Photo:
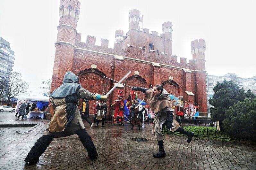
[[[167,21],[163,23],[163,34],[164,34],[164,52],[170,57],[172,55],[172,32],[173,32],[173,23]]]

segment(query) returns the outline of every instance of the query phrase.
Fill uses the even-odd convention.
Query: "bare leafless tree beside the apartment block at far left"
[[[8,106],[11,98],[18,94],[27,94],[29,86],[28,82],[22,80],[22,74],[20,72],[13,72],[10,77],[9,86],[4,87],[4,90],[8,92]]]

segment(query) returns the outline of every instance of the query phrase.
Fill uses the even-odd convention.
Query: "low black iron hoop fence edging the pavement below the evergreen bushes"
[[[183,129],[189,131],[189,132],[194,132],[195,136],[203,136],[203,137],[207,137],[207,139],[209,138],[220,138],[220,139],[229,139],[229,140],[239,140],[239,143],[241,143],[241,141],[252,141],[252,142],[256,142],[256,140],[254,138],[250,138],[251,135],[246,136],[245,138],[240,138],[241,133],[239,130],[237,132],[235,132],[235,136],[237,136],[236,138],[234,137],[234,135],[229,135],[227,134],[227,132],[220,132],[217,131],[215,129],[211,129],[211,128],[184,128],[182,126]],[[165,133],[171,133],[169,130],[166,129],[166,127],[163,129],[163,132]],[[178,132],[174,132],[174,133],[178,133]],[[178,133],[180,134],[180,133]]]

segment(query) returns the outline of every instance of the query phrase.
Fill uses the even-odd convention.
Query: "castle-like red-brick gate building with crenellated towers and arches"
[[[116,42],[112,49],[108,48],[106,39],[101,39],[100,46],[95,45],[96,37],[90,35],[86,42],[81,42],[81,34],[76,30],[79,1],[60,0],[59,13],[51,91],[61,85],[68,70],[79,77],[82,87],[99,94],[106,94],[114,86],[113,81],[103,76],[119,81],[132,71],[124,84],[145,88],[162,84],[175,97],[183,96],[184,101],[198,103],[201,115],[206,113],[207,116],[205,40],[193,40],[193,59],[187,63],[186,58],[181,58],[178,63],[177,56],[172,55],[172,22],[163,23],[162,34],[150,32],[139,27],[140,12],[131,10],[129,31],[126,35],[122,30],[115,31]],[[126,86],[116,88],[109,95],[108,105],[115,100],[119,89],[124,89],[125,98],[131,92]],[[143,99],[145,95],[138,92],[138,97]],[[90,113],[93,103],[90,101]],[[108,111],[113,115],[110,107]]]

